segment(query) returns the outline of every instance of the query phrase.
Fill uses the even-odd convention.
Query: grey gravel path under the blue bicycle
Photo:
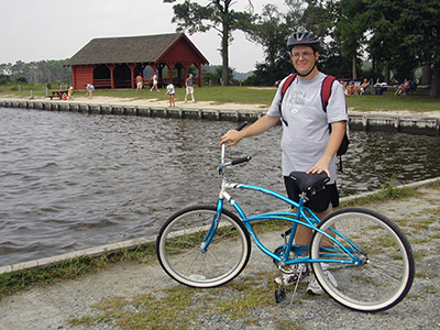
[[[424,193],[421,197],[366,206],[392,219],[409,220],[403,230],[415,251],[417,274],[409,295],[396,307],[384,312],[363,314],[340,306],[328,296],[309,297],[299,293],[299,302],[290,308],[288,293],[287,299],[280,304],[274,301],[250,309],[245,319],[228,317],[228,314],[217,312],[217,309],[210,310],[213,302],[208,298],[211,299],[213,294],[220,300],[240,297],[246,290],[241,292],[237,287],[249,278],[276,275],[273,263],[253,249],[246,270],[233,280],[237,286],[226,285],[215,293],[188,288],[188,295],[197,298],[194,304],[205,305],[208,307],[206,310],[211,312],[198,314],[193,326],[176,329],[440,329],[440,189],[421,188],[420,191]],[[421,211],[426,213],[425,217],[421,217]],[[411,223],[425,226],[411,231]],[[429,242],[426,238],[429,238]],[[267,283],[263,279],[262,299],[273,296]],[[100,311],[91,306],[110,297],[131,299],[145,294],[157,297],[163,295],[164,288],[177,290],[182,286],[167,277],[156,262],[151,265],[122,263],[76,280],[31,287],[18,295],[1,298],[0,329],[120,329],[114,320],[92,323],[90,327],[72,327],[68,321],[97,316]],[[138,307],[133,305],[133,308]],[[145,326],[143,329],[150,328]]]

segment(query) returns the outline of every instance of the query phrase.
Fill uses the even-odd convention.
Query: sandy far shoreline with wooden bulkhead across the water
[[[84,102],[80,102],[84,100]],[[45,111],[72,111],[88,114],[139,116],[151,118],[176,118],[199,120],[227,120],[232,122],[256,121],[266,113],[262,105],[178,102],[178,107],[168,107],[166,100],[121,99],[109,97],[78,98],[73,101],[38,99],[4,99],[0,97],[0,107],[22,108]],[[183,106],[183,107],[180,107]],[[409,134],[440,135],[440,111],[416,113],[402,111],[350,111],[351,130],[391,131]]]

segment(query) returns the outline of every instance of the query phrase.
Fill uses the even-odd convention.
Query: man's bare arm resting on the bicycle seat
[[[331,160],[333,160],[334,155],[338,152],[339,146],[342,143],[345,130],[346,130],[345,121],[338,121],[331,123],[331,134],[326,151],[322,157],[314,165],[314,167],[307,170],[307,173],[320,174],[322,172],[326,172],[327,175],[330,177],[330,170],[329,170],[330,163]]]

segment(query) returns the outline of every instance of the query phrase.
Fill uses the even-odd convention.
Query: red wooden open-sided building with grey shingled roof
[[[91,40],[66,62],[72,67],[74,89],[85,89],[86,84],[96,88],[135,88],[135,77],[146,66],[157,74],[160,84],[170,80],[183,86],[188,68],[194,65],[201,86],[201,65],[208,61],[184,33],[101,37]],[[168,68],[164,77],[164,68]],[[151,77],[144,77],[151,81]]]

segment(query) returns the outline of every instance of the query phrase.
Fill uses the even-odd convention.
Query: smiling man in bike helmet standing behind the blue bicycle
[[[323,219],[331,213],[332,207],[339,205],[336,154],[345,134],[348,121],[344,91],[342,85],[334,81],[327,109],[323,111],[321,86],[326,75],[317,67],[320,52],[319,40],[310,32],[296,32],[289,36],[287,48],[297,76],[284,97],[282,97],[282,88],[287,77],[279,84],[272,106],[264,117],[240,132],[230,130],[221,138],[220,143],[227,143],[227,146],[234,145],[243,138],[267,131],[282,118],[282,167],[287,195],[293,200],[299,200],[299,188],[289,177],[293,170],[309,174],[326,172],[330,177],[326,189],[312,196],[307,204],[319,219]],[[309,245],[311,234],[312,231],[309,228],[299,226],[295,243]],[[286,283],[289,278],[285,277],[283,280]],[[323,293],[315,278],[309,283],[307,292]]]

